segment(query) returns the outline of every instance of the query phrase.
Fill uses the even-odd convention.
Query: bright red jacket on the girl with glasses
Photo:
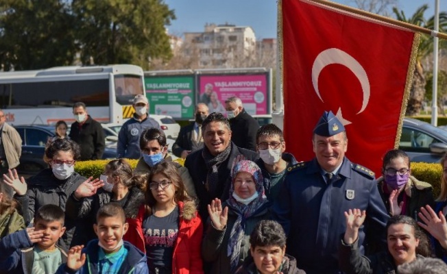
[[[201,247],[203,223],[197,214],[193,201],[178,202],[180,210],[180,225],[178,237],[172,256],[172,273],[174,274],[203,274]],[[128,219],[129,229],[126,240],[132,242],[146,253],[142,224],[145,219],[145,206],[138,210],[136,219]]]

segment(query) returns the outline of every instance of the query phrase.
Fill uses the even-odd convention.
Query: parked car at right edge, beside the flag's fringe
[[[399,149],[411,162],[439,162],[447,152],[447,132],[429,123],[404,118]]]

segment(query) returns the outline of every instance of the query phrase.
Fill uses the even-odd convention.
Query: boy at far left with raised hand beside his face
[[[55,205],[38,209],[34,227],[5,236],[0,241],[0,273],[55,273],[67,262],[67,253],[56,245],[64,234],[64,211]]]

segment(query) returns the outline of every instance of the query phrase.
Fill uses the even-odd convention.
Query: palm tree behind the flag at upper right
[[[432,16],[428,20],[424,18],[424,13],[428,9],[428,5],[422,5],[416,10],[413,16],[407,18],[402,10],[393,8],[393,12],[399,21],[404,21],[412,25],[418,25],[426,29],[433,29],[435,25],[435,17]],[[447,30],[447,13],[439,13],[439,31],[446,32]],[[446,40],[439,40],[439,49],[447,48]],[[418,55],[416,57],[415,70],[413,74],[413,82],[411,84],[410,97],[407,105],[406,115],[417,115],[422,108],[422,101],[425,95],[426,72],[422,66],[422,59],[433,53],[433,38],[426,34],[422,34]]]

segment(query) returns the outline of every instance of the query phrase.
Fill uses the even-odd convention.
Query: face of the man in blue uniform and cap
[[[335,171],[348,150],[348,139],[344,132],[330,137],[314,134],[312,143],[319,166],[327,172]]]

